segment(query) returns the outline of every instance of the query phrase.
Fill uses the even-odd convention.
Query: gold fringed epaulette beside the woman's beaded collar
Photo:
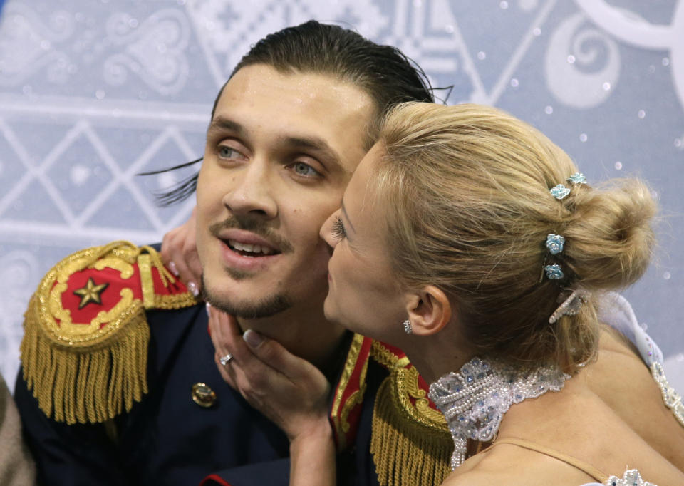
[[[454,443],[444,416],[427,398],[427,383],[398,348],[375,341],[371,358],[390,372],[373,409],[371,453],[378,482],[439,485],[451,472]]]

